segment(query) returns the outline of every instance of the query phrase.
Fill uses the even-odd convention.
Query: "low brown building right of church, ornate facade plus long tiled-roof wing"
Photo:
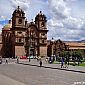
[[[61,41],[58,40],[49,40],[47,43],[47,56],[56,56],[62,57],[62,52],[67,51],[69,53],[72,52],[80,52],[82,53],[82,57],[85,58],[85,42],[77,42],[77,41]]]

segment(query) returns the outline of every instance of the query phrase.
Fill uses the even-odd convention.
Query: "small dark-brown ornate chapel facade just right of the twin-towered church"
[[[66,45],[63,41],[60,39],[55,40],[55,41],[48,41],[47,43],[47,55],[50,56],[57,56],[59,57],[62,51],[67,51],[68,50],[68,45]]]

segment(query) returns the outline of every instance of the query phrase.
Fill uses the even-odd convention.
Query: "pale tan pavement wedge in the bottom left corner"
[[[0,85],[25,85],[25,84],[0,74]]]

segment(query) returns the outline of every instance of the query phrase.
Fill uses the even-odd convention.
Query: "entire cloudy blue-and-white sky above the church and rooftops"
[[[0,0],[0,29],[18,5],[25,11],[28,22],[42,10],[48,20],[48,39],[85,39],[85,0]]]

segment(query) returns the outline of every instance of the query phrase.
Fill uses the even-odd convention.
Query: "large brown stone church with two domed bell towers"
[[[40,11],[29,22],[18,6],[12,20],[2,28],[2,56],[47,56],[47,20]]]

